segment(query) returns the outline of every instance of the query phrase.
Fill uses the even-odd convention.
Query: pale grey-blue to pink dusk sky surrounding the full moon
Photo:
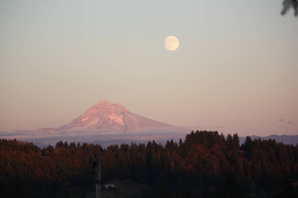
[[[297,135],[298,18],[281,9],[2,0],[0,131],[61,127],[106,99],[174,126]],[[165,49],[168,36],[177,50]]]

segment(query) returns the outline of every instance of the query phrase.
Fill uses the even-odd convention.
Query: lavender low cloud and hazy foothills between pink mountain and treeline
[[[223,127],[201,127],[201,126],[181,126],[181,127],[164,127],[164,128],[139,128],[134,131],[119,131],[109,129],[94,128],[72,128],[66,131],[42,132],[38,130],[26,131],[0,131],[1,138],[17,139],[27,142],[42,142],[44,144],[54,145],[58,141],[67,142],[92,142],[95,140],[176,140],[185,139],[186,134],[192,130],[217,130]],[[221,133],[221,132],[220,132]]]

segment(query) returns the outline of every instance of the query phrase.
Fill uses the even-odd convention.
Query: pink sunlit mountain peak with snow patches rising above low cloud
[[[71,123],[56,129],[56,131],[66,131],[74,127],[134,131],[138,128],[173,126],[134,114],[120,104],[101,100]]]

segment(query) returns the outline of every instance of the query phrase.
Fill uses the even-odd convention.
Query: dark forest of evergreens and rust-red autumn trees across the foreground
[[[0,139],[0,197],[84,197],[94,191],[94,154],[102,182],[151,184],[140,197],[297,197],[298,145],[196,131],[178,143],[111,145],[32,143]]]

